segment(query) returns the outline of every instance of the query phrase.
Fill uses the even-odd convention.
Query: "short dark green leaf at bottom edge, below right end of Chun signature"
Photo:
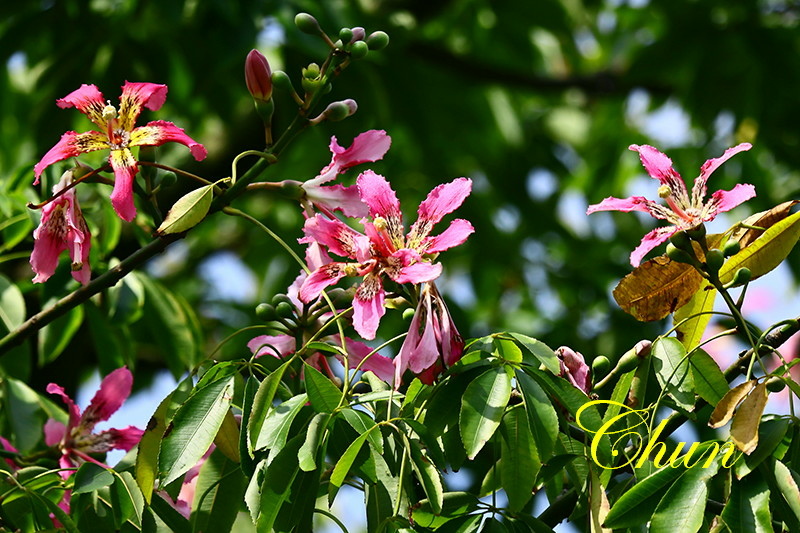
[[[746,483],[732,483],[720,519],[730,531],[771,533],[769,489],[763,478],[752,476]]]

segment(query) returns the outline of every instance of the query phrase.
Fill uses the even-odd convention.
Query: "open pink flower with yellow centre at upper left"
[[[68,131],[61,140],[47,152],[33,170],[36,174],[34,185],[45,168],[53,163],[63,161],[96,150],[111,150],[109,163],[114,169],[114,191],[111,193],[111,204],[121,219],[133,220],[136,206],[133,204],[133,178],[139,172],[136,159],[131,153],[134,146],[160,146],[174,141],[189,147],[198,161],[206,157],[206,149],[172,122],[156,120],[144,126],[134,128],[142,107],[156,111],[167,98],[167,86],[155,83],[131,83],[126,81],[122,86],[119,110],[103,98],[103,94],[95,85],[81,85],[64,98],[56,100],[58,107],[76,107],[89,117],[100,131],[76,133]]]

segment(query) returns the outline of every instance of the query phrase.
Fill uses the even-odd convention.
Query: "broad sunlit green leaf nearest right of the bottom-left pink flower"
[[[233,376],[196,389],[164,432],[158,455],[162,486],[185,474],[214,442],[233,399]]]

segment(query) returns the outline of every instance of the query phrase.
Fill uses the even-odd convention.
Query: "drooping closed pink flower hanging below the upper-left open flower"
[[[68,170],[53,187],[58,194],[72,183],[73,171]],[[33,230],[31,268],[36,273],[34,283],[43,283],[56,271],[58,256],[69,250],[72,277],[84,285],[89,283],[89,247],[92,236],[78,205],[75,189],[70,189],[42,208],[42,220]]]

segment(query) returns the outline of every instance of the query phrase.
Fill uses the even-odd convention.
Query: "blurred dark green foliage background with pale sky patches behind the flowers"
[[[57,108],[55,100],[81,83],[96,84],[114,102],[125,80],[166,83],[166,105],[145,111],[140,121],[174,121],[206,145],[209,157],[197,163],[175,146],[165,147],[159,159],[209,179],[228,176],[238,153],[263,147],[244,85],[248,51],[264,52],[273,69],[285,70],[296,85],[303,66],[325,57],[324,43],[292,24],[300,11],[317,17],[331,35],[363,26],[367,33],[386,31],[391,43],[354,62],[330,94],[331,100],[354,98],[356,115],[306,132],[265,179],[312,178],[329,161],[331,135],[347,146],[372,128],[392,137],[387,156],[371,168],[397,190],[407,223],[435,185],[471,177],[474,192],[457,216],[471,220],[476,232],[442,256],[440,283],[466,337],[509,329],[553,348],[566,344],[589,358],[613,359],[663,330],[663,324],[637,323],[610,296],[652,221],[584,214],[588,204],[609,195],[635,190],[655,197],[657,184],[643,177],[630,144],[659,147],[692,180],[706,159],[752,142],[752,151],[725,164],[711,182],[712,190],[738,181],[756,186],[758,197],[741,208],[743,215],[794,198],[800,189],[796,2],[3,2],[0,220],[18,219],[3,229],[0,272],[20,282],[28,315],[74,289],[66,269],[45,286],[28,281],[36,215],[24,202],[46,192],[32,187],[32,166],[64,131],[91,126],[75,110]],[[285,94],[276,94],[276,103],[280,131],[296,106]],[[57,175],[58,166],[49,184]],[[345,180],[356,175],[351,171]],[[160,205],[171,205],[192,186],[179,181]],[[149,236],[109,216],[107,189],[81,191],[99,243],[97,275]],[[286,200],[257,192],[236,205],[292,244],[301,236],[301,212]],[[183,309],[197,311],[187,341],[196,357],[236,329],[257,324],[256,304],[285,291],[297,274],[275,242],[219,214],[167,258],[147,269],[163,289],[147,290],[180,295]],[[800,268],[796,254],[789,262]],[[70,389],[98,361],[108,369],[128,362],[139,366],[141,386],[146,380],[140,376],[175,356],[150,341],[158,324],[143,318],[150,311],[142,307],[139,295],[146,291],[139,285],[134,279],[125,290],[95,299],[82,317],[62,320],[52,333],[74,335],[52,364],[37,369],[37,362],[52,359],[40,336],[18,348],[13,361],[6,357],[5,370],[34,386],[57,378]],[[105,312],[95,312],[100,309]],[[389,338],[406,328],[393,316],[379,335]],[[248,338],[227,343],[221,353],[246,355]],[[178,372],[180,366],[171,368]]]

